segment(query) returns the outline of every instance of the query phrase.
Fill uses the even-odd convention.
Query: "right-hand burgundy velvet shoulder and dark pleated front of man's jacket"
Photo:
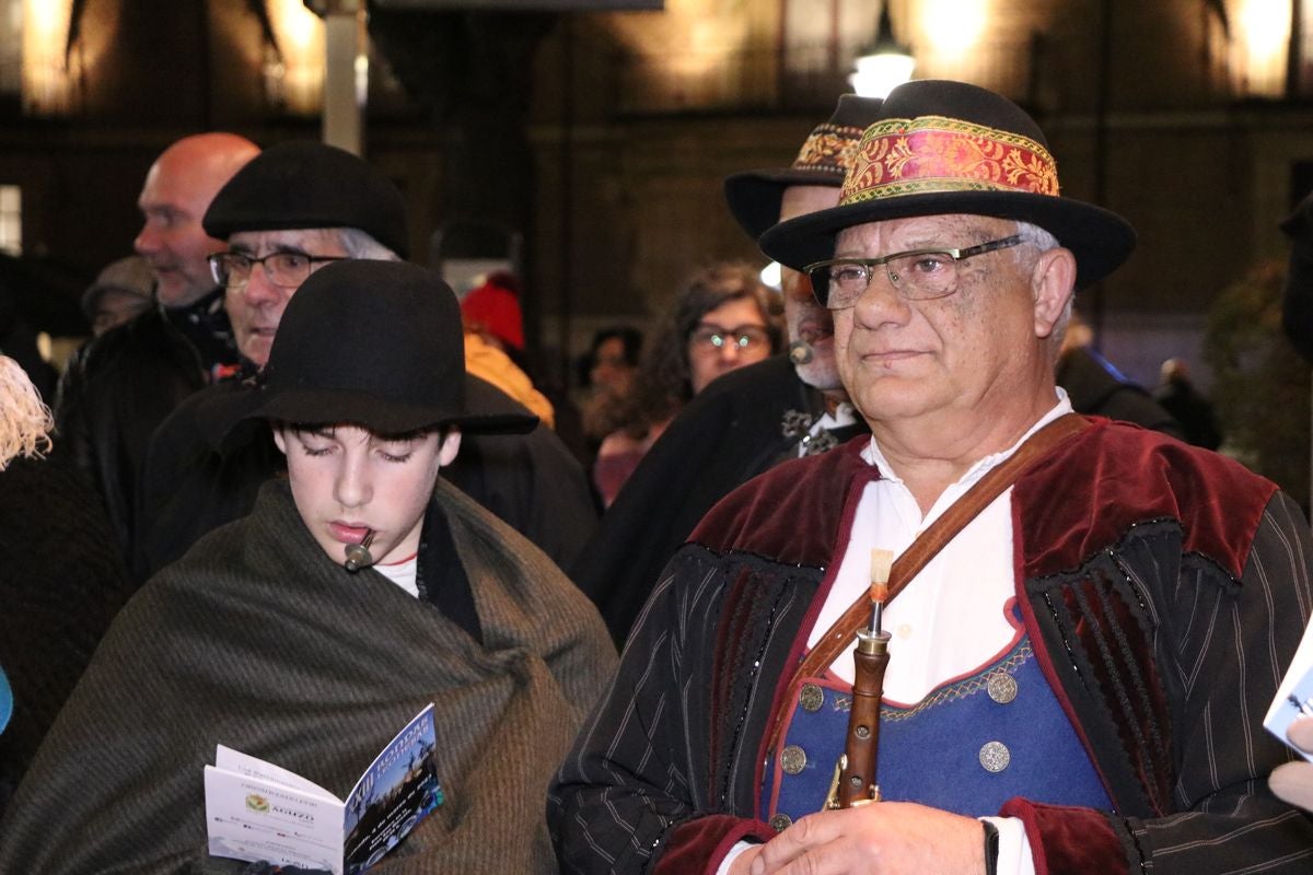
[[[1141,594],[1107,551],[1125,546],[1136,526],[1166,526],[1182,555],[1216,564],[1238,585],[1276,487],[1155,432],[1094,421],[1012,492],[1025,581],[1019,596],[1027,626],[1045,640],[1041,665],[1115,803],[1163,816],[1173,811],[1175,774],[1154,630],[1138,607]]]

